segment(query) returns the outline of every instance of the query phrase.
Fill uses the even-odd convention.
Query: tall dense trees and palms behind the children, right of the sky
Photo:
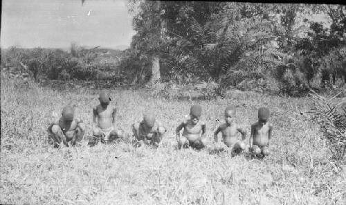
[[[346,6],[129,0],[129,11],[137,33],[121,66],[138,82],[158,57],[163,81],[290,94],[345,85]]]

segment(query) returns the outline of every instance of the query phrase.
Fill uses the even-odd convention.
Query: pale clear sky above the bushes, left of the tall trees
[[[1,48],[125,49],[136,33],[127,0],[2,0]]]

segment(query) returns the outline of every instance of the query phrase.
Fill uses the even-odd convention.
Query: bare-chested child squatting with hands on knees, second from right
[[[234,106],[228,106],[225,109],[225,121],[226,123],[217,127],[217,130],[214,132],[214,139],[217,143],[217,150],[224,150],[228,147],[232,154],[239,154],[245,149],[244,140],[246,139],[246,130],[243,127],[239,126],[235,122],[236,109]],[[217,134],[221,132],[222,139],[224,144],[218,143],[220,141]],[[238,140],[238,133],[242,134],[242,141]]]

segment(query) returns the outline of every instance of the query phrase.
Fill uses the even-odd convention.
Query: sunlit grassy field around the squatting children
[[[112,90],[118,126],[130,125],[146,109],[156,112],[168,132],[157,149],[134,149],[128,142],[54,149],[44,131],[74,103],[91,134],[91,109],[98,90],[54,91],[1,78],[1,204],[346,204],[346,172],[329,163],[318,127],[300,111],[307,98],[280,98],[233,92],[199,101],[207,136],[237,105],[239,123],[250,132],[257,109],[270,107],[274,126],[271,156],[229,157],[208,150],[176,150],[174,130],[188,114],[189,101],[150,98],[148,91]],[[248,143],[248,139],[246,139]]]

